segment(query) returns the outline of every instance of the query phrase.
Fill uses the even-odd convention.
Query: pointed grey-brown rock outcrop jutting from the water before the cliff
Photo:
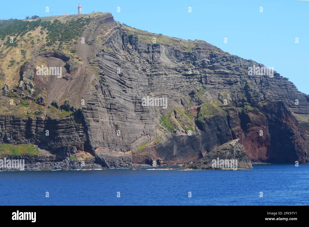
[[[215,169],[252,169],[252,163],[244,152],[239,139],[227,142],[214,151],[207,153],[203,158],[191,164],[181,166],[180,170],[215,170]],[[228,163],[229,162],[229,163]]]

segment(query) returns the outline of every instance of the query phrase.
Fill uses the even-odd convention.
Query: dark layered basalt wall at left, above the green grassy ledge
[[[77,115],[76,118],[79,117]],[[46,130],[49,130],[48,136]],[[55,155],[68,156],[89,147],[86,134],[84,125],[70,116],[61,120],[0,116],[1,142],[33,143]]]

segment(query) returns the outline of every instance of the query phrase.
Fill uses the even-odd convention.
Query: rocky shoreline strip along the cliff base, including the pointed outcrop
[[[7,168],[2,167],[0,162],[0,171],[56,171],[56,170],[105,170],[108,168],[126,168],[132,170],[140,170],[142,168],[151,169],[167,169],[167,170],[226,170],[226,169],[252,169],[252,165],[268,165],[272,163],[261,163],[251,162],[248,155],[244,152],[244,147],[239,143],[239,139],[227,142],[214,151],[208,152],[204,157],[195,161],[188,162],[186,164],[178,164],[179,168],[172,167],[170,164],[162,163],[153,167],[150,164],[139,164],[139,163],[127,163],[123,166],[110,166],[106,163],[112,163],[116,159],[107,160],[105,158],[98,158],[98,155],[93,156],[87,152],[78,152],[70,157],[57,157],[46,150],[39,149],[39,155],[34,154],[21,154],[21,155],[0,155],[0,160],[23,160],[23,168]],[[125,158],[124,158],[125,159]],[[220,160],[237,160],[236,168],[233,166],[215,166],[213,167],[213,161],[216,159]],[[123,162],[119,162],[118,164]],[[104,165],[105,164],[105,165]],[[165,168],[164,168],[165,167]]]

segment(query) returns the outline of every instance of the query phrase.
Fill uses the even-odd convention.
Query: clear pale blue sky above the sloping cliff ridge
[[[53,15],[76,14],[81,3],[85,14],[110,12],[115,20],[131,27],[181,39],[205,40],[230,54],[274,67],[298,90],[309,94],[309,1],[78,1],[2,1],[0,17],[49,16],[46,6]],[[116,12],[117,6],[120,13]],[[188,13],[189,6],[192,13]],[[259,12],[260,6],[263,13]],[[225,37],[227,43],[223,43]]]

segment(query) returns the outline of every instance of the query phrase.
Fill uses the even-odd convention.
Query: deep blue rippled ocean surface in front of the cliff
[[[309,164],[149,169],[1,171],[0,205],[309,205]]]

